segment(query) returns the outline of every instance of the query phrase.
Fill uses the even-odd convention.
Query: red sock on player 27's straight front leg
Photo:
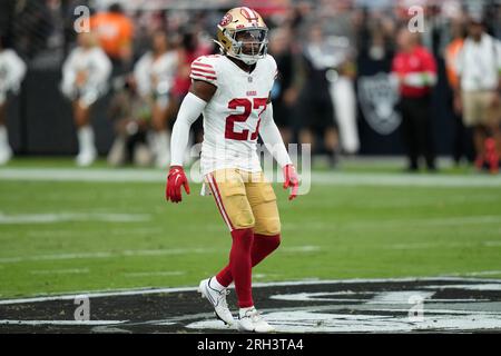
[[[233,244],[229,251],[229,268],[234,276],[235,291],[240,308],[254,305],[252,293],[252,259],[254,233],[252,228],[232,231]]]

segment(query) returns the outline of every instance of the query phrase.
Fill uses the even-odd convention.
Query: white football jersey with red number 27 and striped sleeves
[[[203,56],[191,63],[191,79],[217,87],[203,111],[203,175],[224,168],[262,170],[256,152],[259,122],[276,75],[269,55],[259,59],[252,72],[223,55]]]

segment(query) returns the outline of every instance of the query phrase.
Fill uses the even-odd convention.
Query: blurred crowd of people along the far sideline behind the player
[[[108,116],[116,131],[108,161],[168,166],[169,132],[189,89],[190,62],[218,51],[212,41],[216,24],[235,6],[254,8],[269,27],[268,52],[279,69],[272,99],[286,144],[312,144],[313,152],[328,157],[332,167],[340,154],[355,155],[361,147],[358,65],[387,63],[400,96],[396,109],[402,115],[407,169],[418,170],[422,156],[428,169],[435,170],[430,97],[443,62],[448,105],[454,113],[454,161],[465,159],[481,168],[499,160],[498,1],[243,0],[207,1],[204,9],[195,1],[149,1],[148,8],[135,3],[2,1],[0,164],[11,156],[4,128],[7,98],[19,89],[28,63],[28,68],[62,68],[60,91],[72,105],[78,165],[96,159],[90,112],[106,95],[112,97]],[[75,31],[79,6],[91,9],[90,33]],[[423,9],[422,33],[409,31],[416,13],[409,11],[413,6]],[[2,63],[17,70],[2,73]],[[471,70],[482,63],[487,69]],[[193,142],[202,135],[198,120]]]

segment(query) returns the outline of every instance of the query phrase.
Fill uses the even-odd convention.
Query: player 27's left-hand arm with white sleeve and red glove
[[[212,83],[194,80],[188,95],[183,100],[170,138],[171,161],[165,190],[167,200],[173,202],[181,201],[181,186],[189,194],[188,179],[183,169],[183,158],[188,145],[189,129],[202,115],[216,90],[217,88]]]

